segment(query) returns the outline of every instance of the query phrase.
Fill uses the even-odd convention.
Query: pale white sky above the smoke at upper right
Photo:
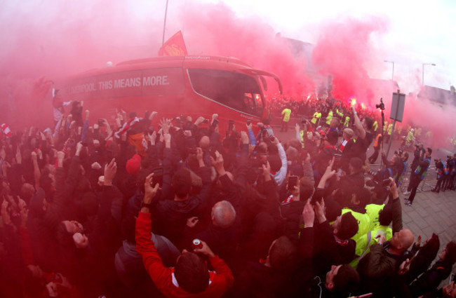
[[[216,3],[217,1],[207,1]],[[276,2],[262,0],[229,0],[227,6],[240,17],[259,17],[283,36],[310,43],[318,39],[318,25],[329,20],[357,18],[382,18],[387,30],[377,39],[385,49],[378,60],[384,63],[376,79],[389,79],[394,62],[394,79],[399,86],[410,85],[419,76],[424,84],[449,90],[456,79],[456,39],[452,29],[456,28],[455,1],[410,1],[385,0],[380,2],[347,1],[293,1]]]

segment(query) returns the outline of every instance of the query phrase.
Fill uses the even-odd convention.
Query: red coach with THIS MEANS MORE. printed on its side
[[[163,56],[108,64],[69,77],[57,88],[64,100],[83,101],[90,115],[102,118],[116,109],[138,115],[158,111],[160,118],[183,114],[194,120],[216,113],[222,127],[229,119],[245,125],[247,119],[255,123],[267,116],[265,76],[282,93],[278,76],[233,57]]]

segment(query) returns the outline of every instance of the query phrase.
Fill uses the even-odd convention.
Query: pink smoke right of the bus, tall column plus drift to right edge
[[[313,51],[313,62],[318,71],[332,77],[331,94],[337,100],[349,102],[356,98],[364,102],[370,109],[383,97],[385,104],[385,118],[388,123],[391,110],[392,93],[401,88],[406,94],[405,111],[402,125],[406,129],[422,127],[420,137],[427,146],[448,147],[447,138],[455,135],[452,126],[455,108],[448,105],[438,107],[427,99],[417,99],[420,92],[421,69],[408,78],[399,78],[408,81],[408,86],[396,86],[392,81],[370,79],[369,73],[384,67],[382,65],[386,51],[375,43],[377,35],[387,33],[388,22],[380,18],[370,20],[343,20],[330,21],[321,26],[320,38]],[[396,74],[397,76],[397,74]],[[410,94],[409,94],[410,93]],[[380,113],[379,113],[380,114]],[[426,140],[424,132],[431,130],[431,140]],[[452,148],[454,149],[454,147]]]

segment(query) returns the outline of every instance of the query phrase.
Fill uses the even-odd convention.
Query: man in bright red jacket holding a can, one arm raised
[[[159,189],[159,184],[152,187],[153,175],[146,178],[145,196],[136,219],[136,250],[142,257],[146,271],[166,297],[221,297],[233,285],[232,271],[204,241],[201,241],[203,247],[194,252],[183,250],[174,268],[163,266],[150,237],[152,222],[149,208]],[[208,264],[199,255],[208,257],[214,271],[208,271]]]

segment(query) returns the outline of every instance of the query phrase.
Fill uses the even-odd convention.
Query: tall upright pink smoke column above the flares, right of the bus
[[[380,56],[371,36],[383,33],[385,27],[386,22],[379,18],[334,21],[321,27],[313,60],[321,74],[332,77],[333,97],[344,102],[355,97],[368,106],[380,99],[368,69],[379,63]]]

